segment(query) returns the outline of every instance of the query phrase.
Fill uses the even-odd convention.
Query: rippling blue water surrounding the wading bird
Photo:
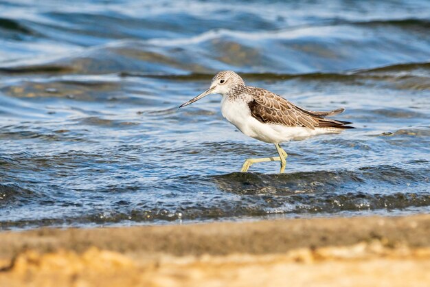
[[[0,1],[0,228],[430,211],[429,1]],[[275,148],[237,71],[356,130]]]

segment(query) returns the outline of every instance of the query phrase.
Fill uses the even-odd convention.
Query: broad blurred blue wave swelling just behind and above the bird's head
[[[343,74],[365,67],[398,65],[405,59],[428,60],[428,45],[422,35],[415,35],[418,44],[413,47],[404,43],[404,38],[411,36],[408,32],[370,35],[367,39],[366,27],[350,25],[274,32],[211,30],[183,38],[115,40],[84,48],[73,56],[63,54],[31,65],[9,62],[0,67],[0,73],[177,75],[232,69],[249,74],[262,71],[319,76],[319,72]]]

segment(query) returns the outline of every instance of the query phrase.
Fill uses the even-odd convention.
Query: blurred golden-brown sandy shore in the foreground
[[[430,215],[0,233],[0,286],[428,286]]]

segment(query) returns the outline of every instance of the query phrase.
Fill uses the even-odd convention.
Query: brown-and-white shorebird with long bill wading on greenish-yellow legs
[[[292,139],[304,139],[325,133],[340,133],[352,124],[326,117],[339,115],[345,108],[333,111],[308,111],[280,95],[265,89],[248,87],[234,71],[220,71],[212,79],[210,88],[192,100],[181,104],[179,108],[192,104],[210,94],[223,95],[221,112],[223,117],[238,130],[254,139],[274,143],[279,157],[247,159],[241,172],[247,172],[253,163],[280,161],[280,173],[284,172],[288,154],[280,143]]]

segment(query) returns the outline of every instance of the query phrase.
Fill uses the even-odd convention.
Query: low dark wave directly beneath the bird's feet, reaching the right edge
[[[276,194],[337,192],[341,187],[356,189],[359,185],[381,182],[405,184],[429,181],[430,169],[405,170],[392,166],[359,168],[359,170],[294,172],[291,174],[253,174],[234,172],[214,176],[220,190],[234,194]]]

